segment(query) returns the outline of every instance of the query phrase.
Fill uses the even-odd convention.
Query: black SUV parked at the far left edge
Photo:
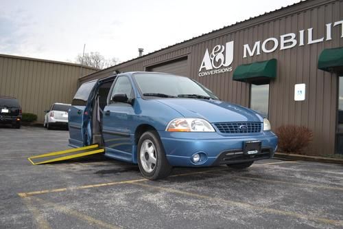
[[[21,128],[21,106],[16,98],[0,96],[0,124]]]

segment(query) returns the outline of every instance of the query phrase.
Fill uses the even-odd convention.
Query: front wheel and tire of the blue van
[[[147,179],[162,179],[171,172],[165,150],[156,131],[147,131],[139,138],[137,146],[139,170]]]

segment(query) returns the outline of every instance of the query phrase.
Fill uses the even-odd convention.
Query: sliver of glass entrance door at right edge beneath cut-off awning
[[[339,77],[335,153],[343,154],[343,76]]]

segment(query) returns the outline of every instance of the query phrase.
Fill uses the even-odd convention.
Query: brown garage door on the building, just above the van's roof
[[[176,74],[178,76],[187,76],[187,58],[182,60],[172,61],[155,65],[147,68],[148,72],[165,72],[170,74]]]

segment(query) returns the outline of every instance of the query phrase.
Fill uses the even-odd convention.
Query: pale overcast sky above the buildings
[[[0,0],[0,54],[75,61],[86,44],[123,62],[298,1]]]

